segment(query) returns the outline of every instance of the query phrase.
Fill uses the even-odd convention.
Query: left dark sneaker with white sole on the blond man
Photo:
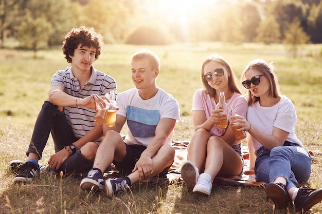
[[[99,169],[91,169],[88,171],[87,177],[81,181],[80,188],[82,190],[104,189],[104,179]]]

